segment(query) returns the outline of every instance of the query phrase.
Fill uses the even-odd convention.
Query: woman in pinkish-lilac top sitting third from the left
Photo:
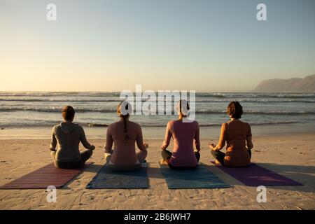
[[[161,148],[162,158],[171,168],[195,168],[200,160],[199,125],[197,121],[186,118],[189,113],[188,110],[188,102],[184,99],[180,100],[177,105],[179,120],[171,120],[167,123],[165,140]],[[167,151],[167,147],[172,137],[174,139],[174,148],[171,153]],[[194,151],[193,147],[194,140],[196,151]]]

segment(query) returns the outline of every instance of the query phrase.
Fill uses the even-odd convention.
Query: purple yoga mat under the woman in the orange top
[[[215,165],[214,161],[211,162]],[[302,183],[253,163],[249,167],[231,168],[217,165],[216,167],[246,186],[302,186]]]

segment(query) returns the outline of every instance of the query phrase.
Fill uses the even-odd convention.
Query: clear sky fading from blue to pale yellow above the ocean
[[[0,0],[0,91],[251,91],[315,73],[314,11],[314,0]]]

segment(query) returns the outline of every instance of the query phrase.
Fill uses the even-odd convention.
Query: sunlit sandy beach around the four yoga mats
[[[0,190],[0,209],[315,209],[314,137],[297,134],[253,139],[253,162],[304,184],[267,187],[266,203],[256,201],[255,187],[244,186],[211,164],[206,139],[202,140],[201,162],[232,188],[169,190],[158,166],[162,140],[148,140],[150,188],[87,190],[87,183],[104,165],[105,139],[92,139],[96,150],[90,161],[94,165],[57,190],[56,203],[46,201],[45,190]],[[49,139],[0,140],[0,144],[0,185],[51,162]]]

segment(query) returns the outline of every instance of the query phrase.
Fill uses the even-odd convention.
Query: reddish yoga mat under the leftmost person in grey
[[[46,189],[48,186],[62,188],[91,164],[92,162],[87,162],[84,167],[77,169],[59,169],[51,163],[1,186],[0,189]]]

